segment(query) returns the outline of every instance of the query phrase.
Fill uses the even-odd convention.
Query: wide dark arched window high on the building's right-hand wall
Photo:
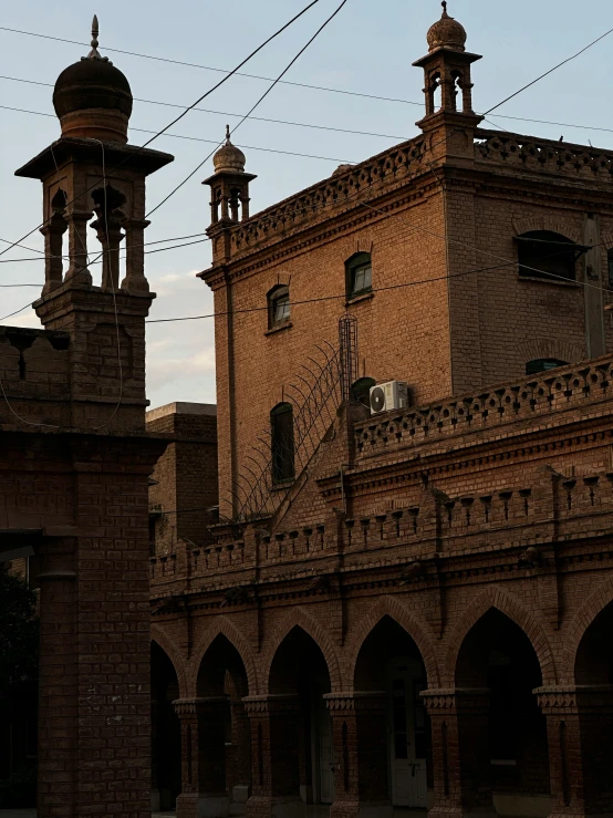
[[[575,279],[575,261],[585,248],[551,230],[530,230],[517,237],[519,275],[551,281]]]

